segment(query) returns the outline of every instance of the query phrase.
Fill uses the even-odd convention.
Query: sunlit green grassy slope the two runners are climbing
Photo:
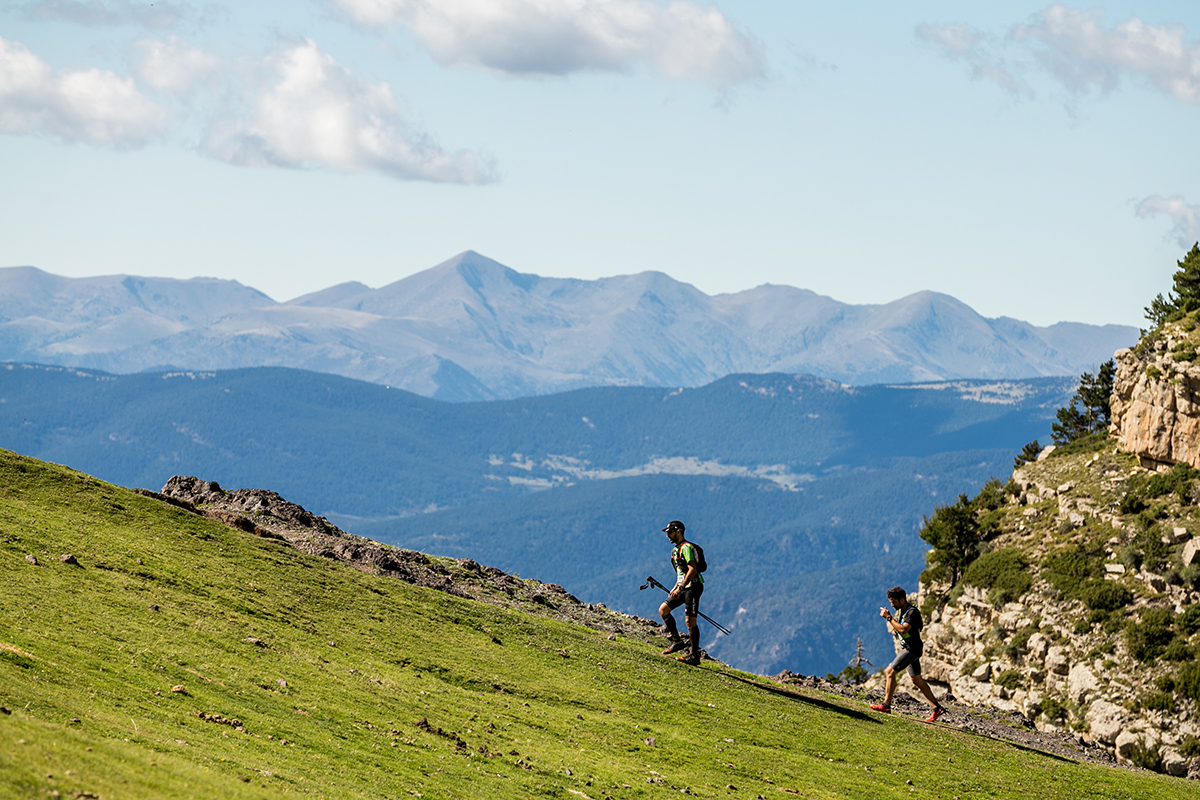
[[[4,798],[1194,790],[683,667],[7,451],[0,575]]]

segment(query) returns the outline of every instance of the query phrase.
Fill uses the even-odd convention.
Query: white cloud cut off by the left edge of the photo
[[[55,73],[20,42],[0,38],[0,131],[127,148],[158,136],[164,121],[130,78],[104,70]]]

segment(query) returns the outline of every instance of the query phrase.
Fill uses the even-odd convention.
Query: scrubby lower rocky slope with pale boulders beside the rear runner
[[[922,588],[925,676],[958,700],[1195,776],[1196,474],[1148,470],[1111,438],[1070,450],[1013,474],[976,561],[990,569]]]

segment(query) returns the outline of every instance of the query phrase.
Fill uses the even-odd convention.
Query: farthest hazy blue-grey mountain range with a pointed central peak
[[[379,289],[348,282],[286,303],[236,281],[0,269],[0,361],[118,373],[286,366],[448,401],[734,373],[854,385],[1073,375],[1136,337],[1122,325],[985,319],[934,291],[882,306],[770,284],[709,296],[661,272],[544,278],[473,251]]]

